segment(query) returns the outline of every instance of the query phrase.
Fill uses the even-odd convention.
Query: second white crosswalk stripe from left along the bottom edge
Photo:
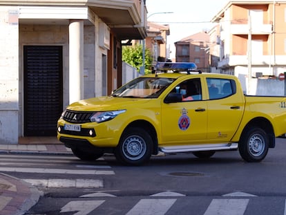
[[[164,215],[176,199],[141,199],[126,215]]]

